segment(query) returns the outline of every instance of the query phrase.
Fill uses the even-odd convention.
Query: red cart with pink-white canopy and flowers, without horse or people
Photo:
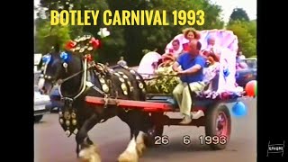
[[[203,112],[202,116],[193,119],[188,124],[190,126],[204,126],[206,137],[214,138],[215,141],[209,143],[213,149],[225,148],[231,132],[231,116],[227,103],[237,103],[238,99],[241,98],[245,93],[243,88],[238,87],[235,83],[235,72],[236,72],[236,49],[238,41],[237,37],[231,31],[202,31],[202,48],[207,46],[206,40],[210,34],[216,34],[217,38],[220,38],[218,45],[222,47],[220,54],[220,70],[217,76],[215,76],[210,85],[210,90],[191,94],[193,99],[192,114]],[[179,36],[178,36],[179,37]],[[152,59],[150,59],[152,60]],[[163,64],[161,64],[163,65]],[[128,68],[128,67],[126,67]],[[148,67],[144,67],[147,71]],[[131,73],[136,73],[133,69],[130,69]],[[169,73],[169,72],[168,72]],[[171,74],[171,73],[170,73]],[[147,75],[147,74],[143,74]],[[145,82],[147,88],[144,88],[139,82],[139,88],[151,89],[151,81],[157,82],[161,80],[159,77],[166,79],[166,83],[170,84],[171,80],[175,76],[159,76],[152,74],[152,78],[148,78]],[[153,76],[155,76],[153,78]],[[162,80],[163,80],[162,79]],[[175,87],[174,83],[174,87]],[[207,88],[208,88],[207,86]],[[163,86],[162,86],[163,87]],[[159,88],[157,88],[159,89]],[[128,89],[122,89],[123,92],[129,91]],[[170,118],[166,115],[166,112],[179,112],[179,108],[171,92],[163,93],[149,93],[146,92],[145,101],[132,101],[123,100],[117,98],[106,97],[95,97],[86,96],[85,101],[91,105],[103,106],[103,105],[117,105],[127,111],[132,109],[139,109],[144,112],[149,112],[150,120],[154,123],[153,129],[148,131],[148,143],[155,144],[158,138],[163,135],[165,125],[182,125],[179,124],[182,119]],[[195,115],[197,116],[197,115]],[[213,139],[213,140],[214,140]],[[217,139],[217,141],[216,141]]]

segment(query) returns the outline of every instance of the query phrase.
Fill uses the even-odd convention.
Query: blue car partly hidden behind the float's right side
[[[257,58],[245,58],[239,62],[243,67],[236,71],[236,83],[239,86],[245,85],[251,80],[257,80]]]

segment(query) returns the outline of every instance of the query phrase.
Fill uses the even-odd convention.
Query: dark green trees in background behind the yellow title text
[[[202,10],[205,23],[202,26],[194,24],[192,27],[196,30],[222,29],[223,21],[220,20],[221,8],[219,5],[211,4],[209,0],[40,0],[42,7],[48,8],[46,12],[49,18],[50,10],[100,10],[97,25],[91,26],[70,26],[69,34],[72,39],[87,31],[94,35],[96,39],[101,40],[102,48],[97,50],[94,58],[101,62],[117,62],[120,56],[124,56],[130,66],[139,65],[139,60],[143,57],[142,50],[158,49],[157,52],[163,53],[166,44],[172,40],[175,35],[182,33],[182,30],[190,25],[174,25],[172,12],[177,10],[197,12]],[[168,26],[105,26],[103,25],[103,10],[166,10]],[[82,15],[82,18],[84,16]],[[197,18],[198,19],[198,18]],[[76,17],[77,20],[77,17]],[[93,23],[93,22],[90,22]],[[111,31],[107,38],[100,39],[97,32],[100,28],[106,27]],[[37,42],[37,46],[45,45]],[[42,48],[42,47],[41,47]]]

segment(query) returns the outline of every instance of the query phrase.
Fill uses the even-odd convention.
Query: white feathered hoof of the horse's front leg
[[[81,162],[101,162],[99,155],[99,149],[94,145],[89,148],[84,148],[79,152],[79,158]]]

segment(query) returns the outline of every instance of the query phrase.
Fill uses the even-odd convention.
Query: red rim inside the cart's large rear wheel
[[[216,119],[216,132],[218,136],[228,137],[228,118],[225,112],[220,112]]]

